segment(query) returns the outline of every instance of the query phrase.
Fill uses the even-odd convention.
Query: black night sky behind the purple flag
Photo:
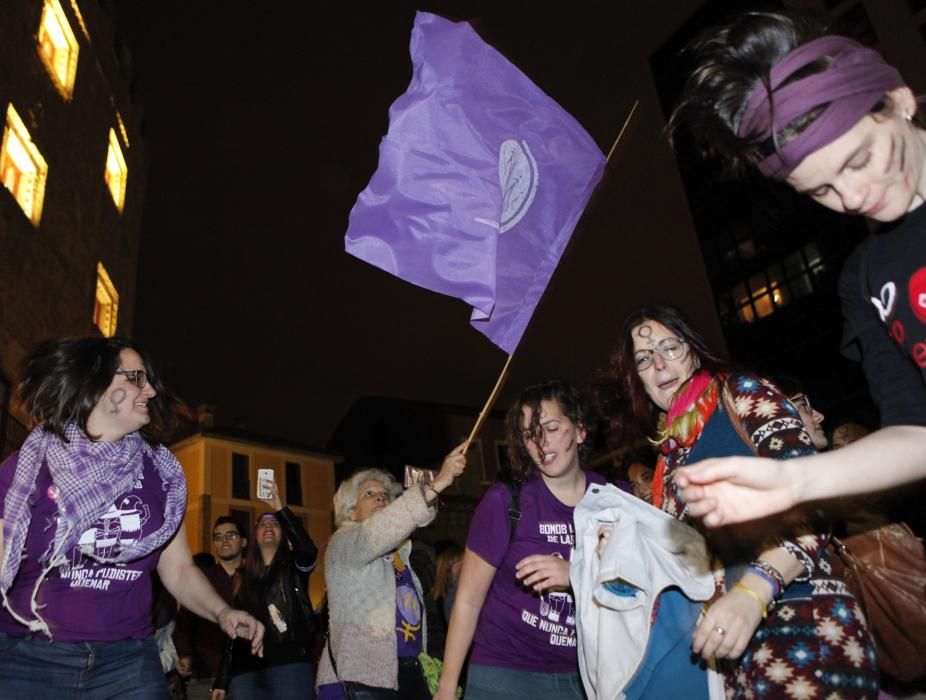
[[[506,357],[470,328],[463,302],[343,252],[388,107],[411,77],[414,4],[322,5],[117,4],[149,156],[134,335],[182,398],[217,407],[218,424],[318,447],[361,395],[479,407]],[[473,19],[607,152],[634,93],[615,58],[624,13],[600,5],[419,4]],[[662,116],[643,110],[640,119]],[[633,126],[625,138],[642,147]],[[652,159],[671,159],[660,138],[650,141]],[[611,168],[621,167],[618,157]],[[639,280],[614,274],[628,243],[621,197],[630,196],[616,180],[606,176],[574,235],[501,406],[528,383],[587,381],[627,312],[684,298],[656,296],[654,280],[687,263],[666,260]],[[633,195],[637,219],[667,187],[679,185],[654,182],[651,195]],[[710,298],[691,303],[717,335],[703,310]]]

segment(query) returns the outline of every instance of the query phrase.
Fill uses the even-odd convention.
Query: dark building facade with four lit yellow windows
[[[7,0],[0,13],[0,408],[28,348],[132,330],[146,157],[111,3]],[[14,408],[15,411],[15,408]]]

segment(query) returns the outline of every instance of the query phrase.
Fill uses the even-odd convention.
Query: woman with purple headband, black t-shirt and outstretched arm
[[[926,477],[926,122],[900,73],[808,20],[744,13],[692,47],[672,115],[704,152],[885,224],[840,278],[843,353],[863,364],[882,429],[836,453],[704,460],[676,473],[709,526]],[[877,465],[877,469],[872,469]]]

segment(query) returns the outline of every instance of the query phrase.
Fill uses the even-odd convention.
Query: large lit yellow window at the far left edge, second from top
[[[13,193],[33,226],[38,226],[42,218],[47,176],[45,159],[32,143],[23,120],[10,105],[6,110],[6,127],[0,147],[0,177],[3,178],[3,186]]]

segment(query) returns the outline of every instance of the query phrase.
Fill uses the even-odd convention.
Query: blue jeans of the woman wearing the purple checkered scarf
[[[154,637],[72,644],[0,633],[0,689],[5,698],[28,700],[167,696]]]

